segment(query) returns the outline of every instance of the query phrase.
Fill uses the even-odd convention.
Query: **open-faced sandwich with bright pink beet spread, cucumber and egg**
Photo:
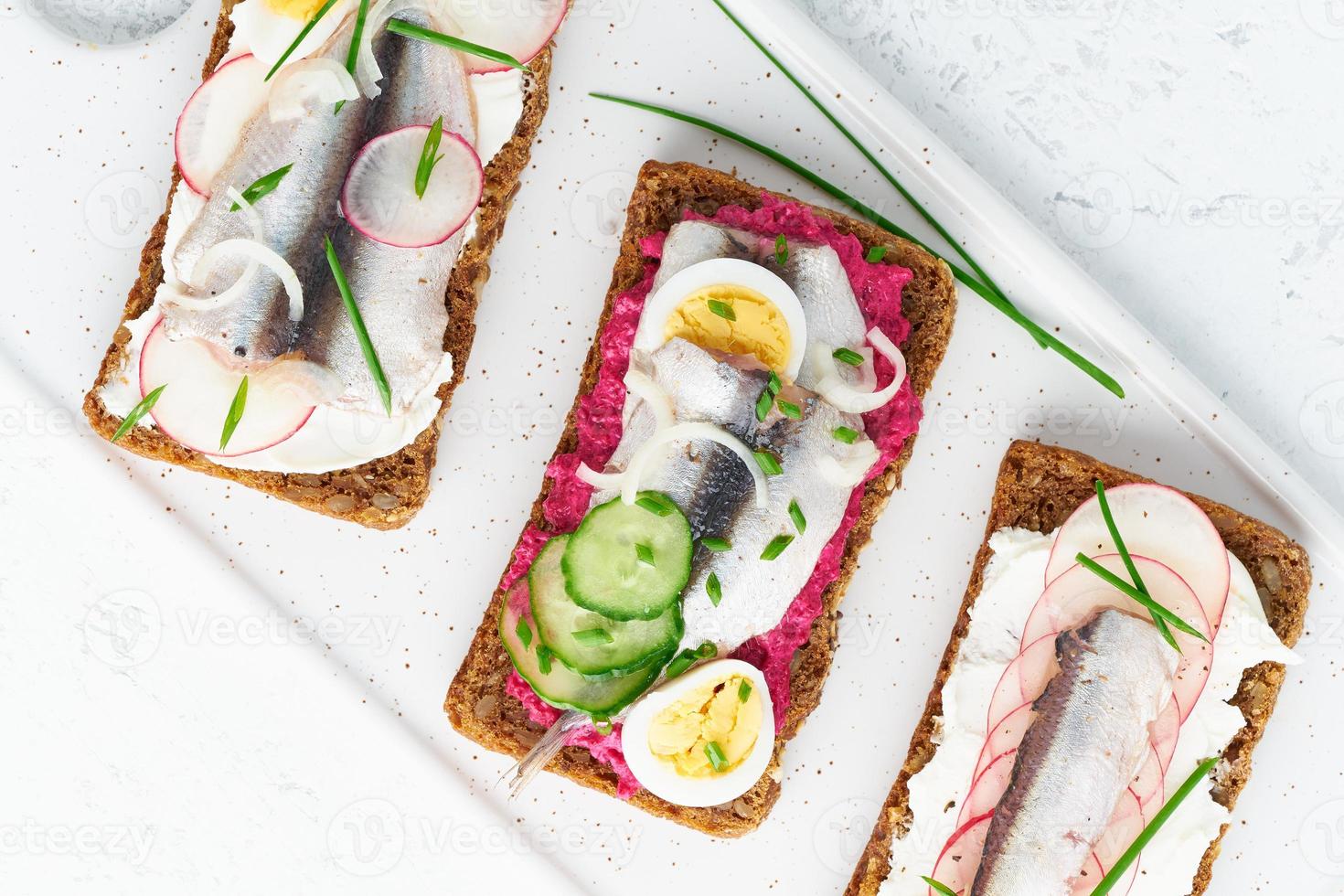
[[[454,727],[700,830],[780,791],[859,549],[952,332],[946,265],[870,224],[646,163],[579,395]]]

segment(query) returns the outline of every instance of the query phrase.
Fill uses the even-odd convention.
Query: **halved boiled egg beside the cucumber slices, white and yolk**
[[[765,676],[714,660],[644,695],[625,717],[621,750],[645,790],[679,806],[718,806],[745,794],[774,752]]]

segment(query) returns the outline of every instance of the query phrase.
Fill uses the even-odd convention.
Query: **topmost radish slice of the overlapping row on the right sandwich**
[[[1208,514],[1176,489],[1148,482],[1106,489],[1106,504],[1129,552],[1152,557],[1185,579],[1218,631],[1231,572],[1227,547]],[[1094,557],[1116,551],[1101,501],[1093,497],[1059,528],[1046,566],[1046,584],[1067,572],[1079,552]]]

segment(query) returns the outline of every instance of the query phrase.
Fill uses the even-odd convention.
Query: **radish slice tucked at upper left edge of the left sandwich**
[[[230,59],[187,99],[173,150],[181,179],[202,196],[233,156],[243,125],[266,105],[266,66],[251,54]]]

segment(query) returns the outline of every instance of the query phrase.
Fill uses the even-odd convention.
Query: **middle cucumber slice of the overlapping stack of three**
[[[569,540],[560,535],[547,541],[527,574],[536,634],[551,653],[574,672],[591,677],[638,669],[655,654],[675,650],[684,629],[677,602],[656,619],[617,622],[570,600],[560,571]],[[575,631],[595,634],[575,637]],[[610,642],[597,633],[606,633]]]

